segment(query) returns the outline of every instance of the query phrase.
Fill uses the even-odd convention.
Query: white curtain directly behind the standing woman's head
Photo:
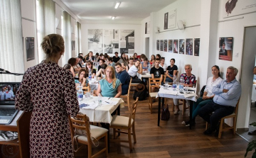
[[[38,0],[38,60],[39,63],[46,57],[40,47],[46,35],[55,33],[55,2],[53,0]]]

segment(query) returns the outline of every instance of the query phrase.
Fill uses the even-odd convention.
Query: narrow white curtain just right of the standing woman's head
[[[63,12],[63,38],[65,41],[65,52],[63,64],[67,64],[71,57],[71,16],[67,11]]]

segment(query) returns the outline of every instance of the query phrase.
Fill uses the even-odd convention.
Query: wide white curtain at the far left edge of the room
[[[0,1],[0,68],[24,73],[21,1]],[[0,74],[0,81],[21,81],[22,76]]]

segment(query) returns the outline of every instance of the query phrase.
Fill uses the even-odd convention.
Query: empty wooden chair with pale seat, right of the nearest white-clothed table
[[[139,97],[137,97],[136,101],[132,104],[132,110],[129,114],[129,117],[125,117],[122,115],[113,115],[112,121],[110,123],[110,128],[113,128],[113,142],[129,142],[129,149],[132,151],[132,137],[134,137],[134,143],[136,143],[136,135],[135,135],[135,114],[137,109],[137,102]],[[118,129],[118,130],[117,130]],[[127,131],[124,131],[127,130]],[[131,131],[132,130],[132,131]],[[128,135],[128,140],[115,140],[116,132],[124,133]]]

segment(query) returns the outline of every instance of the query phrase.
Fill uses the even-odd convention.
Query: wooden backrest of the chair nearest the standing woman
[[[75,118],[71,118],[70,120],[70,129],[71,129],[71,137],[76,135],[75,131],[82,131],[84,130],[87,135],[88,143],[91,143],[92,140],[90,139],[90,120],[86,115],[76,115]]]

